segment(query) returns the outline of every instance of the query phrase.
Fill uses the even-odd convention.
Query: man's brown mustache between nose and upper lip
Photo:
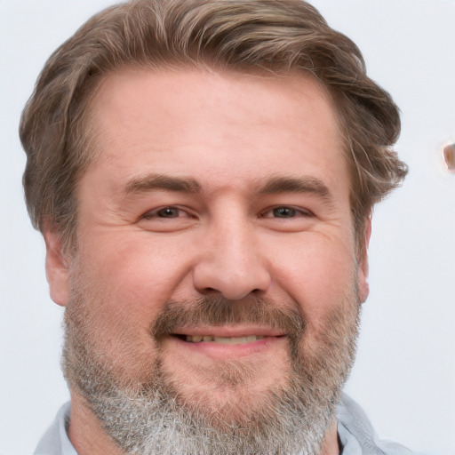
[[[150,335],[159,341],[185,327],[242,323],[265,325],[283,331],[291,339],[299,339],[306,325],[297,309],[277,305],[270,299],[232,301],[203,296],[194,300],[168,301],[150,326]]]

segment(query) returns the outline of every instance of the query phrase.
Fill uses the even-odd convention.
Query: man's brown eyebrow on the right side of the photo
[[[322,180],[311,176],[304,177],[271,177],[259,188],[259,196],[275,195],[280,193],[307,193],[319,196],[326,202],[331,202],[333,196]]]

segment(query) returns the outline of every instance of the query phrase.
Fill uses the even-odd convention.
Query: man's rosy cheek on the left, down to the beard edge
[[[125,377],[148,380],[157,351],[149,328],[172,293],[172,266],[144,242],[98,237],[84,243],[72,271],[80,334]]]

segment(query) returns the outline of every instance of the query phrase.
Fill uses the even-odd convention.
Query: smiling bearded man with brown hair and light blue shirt
[[[20,137],[71,405],[36,454],[404,454],[341,394],[395,104],[300,0],[139,0],[47,62]]]

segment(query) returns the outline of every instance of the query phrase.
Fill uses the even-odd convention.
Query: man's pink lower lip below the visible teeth
[[[177,337],[171,337],[169,340],[176,343],[180,349],[185,349],[191,354],[200,354],[211,357],[215,360],[243,357],[245,355],[259,354],[273,347],[278,347],[286,342],[286,337],[267,337],[257,339],[251,343],[241,345],[230,345],[225,343],[217,343],[215,341],[201,341],[199,343],[191,343]]]

